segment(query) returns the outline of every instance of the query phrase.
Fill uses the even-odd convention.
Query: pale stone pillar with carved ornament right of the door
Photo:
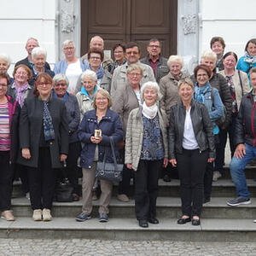
[[[177,1],[177,55],[184,58],[185,67],[193,73],[199,56],[199,1]]]

